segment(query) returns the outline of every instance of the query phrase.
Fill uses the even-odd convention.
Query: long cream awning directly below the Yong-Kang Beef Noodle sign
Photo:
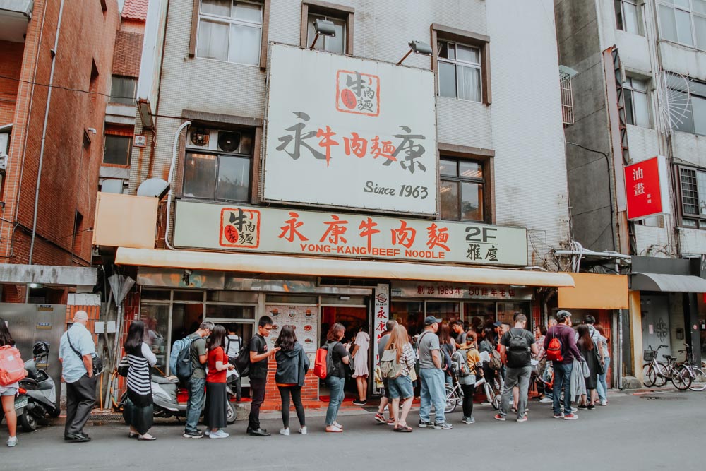
[[[568,273],[473,268],[431,263],[357,261],[263,254],[223,254],[220,252],[129,249],[126,247],[118,248],[115,263],[117,265],[192,268],[197,270],[224,270],[278,275],[429,280],[487,285],[574,286],[574,280]]]

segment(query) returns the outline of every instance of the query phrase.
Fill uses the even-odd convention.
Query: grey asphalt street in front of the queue
[[[460,423],[460,407],[448,419],[452,430],[411,434],[373,422],[373,410],[339,416],[342,434],[323,432],[323,414],[311,412],[309,434],[277,434],[273,415],[263,427],[270,438],[246,436],[246,422],[228,427],[227,439],[184,439],[176,422],[152,428],[157,441],[128,439],[124,424],[87,427],[90,443],[67,443],[59,424],[18,434],[16,448],[0,448],[0,470],[676,470],[702,469],[706,393],[659,391],[611,393],[608,407],[580,411],[579,419],[551,417],[551,404],[530,404],[525,423],[498,422],[489,405],[476,405],[476,423]],[[292,411],[292,423],[297,424]],[[7,429],[0,427],[0,443]]]

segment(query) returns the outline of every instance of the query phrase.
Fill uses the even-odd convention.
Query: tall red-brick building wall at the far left
[[[52,66],[49,49],[54,48],[60,3],[35,0],[20,71],[20,78],[25,81],[49,83]],[[105,16],[98,1],[67,1],[64,4],[54,85],[89,90],[92,62],[95,61],[99,75],[91,88],[109,94],[119,14],[116,0],[108,0],[108,3]],[[42,44],[38,44],[40,37]],[[2,50],[4,55],[5,50]],[[2,195],[6,206],[0,210],[0,217],[4,219],[0,221],[0,260],[3,262],[28,261],[30,238],[27,232],[31,232],[35,208],[48,90],[30,83],[18,84],[15,115],[11,120],[14,127],[10,158]],[[32,260],[35,264],[88,265],[90,262],[91,237],[82,237],[75,256],[71,256],[73,225],[76,210],[83,215],[84,230],[93,225],[106,103],[107,97],[103,95],[61,88],[52,90],[37,216],[37,241],[44,242],[37,242],[35,246]],[[84,150],[83,133],[88,128],[95,128],[97,134],[90,135],[91,144]],[[16,230],[11,222],[15,218],[19,224]]]

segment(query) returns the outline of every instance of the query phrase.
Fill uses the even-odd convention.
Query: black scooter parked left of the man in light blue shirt
[[[20,395],[15,400],[17,421],[25,431],[34,431],[39,422],[44,422],[47,415],[59,417],[56,405],[56,385],[47,370],[37,368],[37,364],[46,363],[49,358],[49,343],[37,342],[32,347],[32,359],[25,362],[27,376],[20,380]],[[22,406],[18,408],[18,405]],[[21,411],[21,413],[20,413]]]

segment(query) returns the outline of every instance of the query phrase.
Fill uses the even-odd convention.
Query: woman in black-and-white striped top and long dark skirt
[[[157,363],[157,357],[150,350],[149,345],[143,342],[145,324],[133,321],[128,330],[128,338],[123,347],[130,362],[128,369],[128,399],[132,403],[129,411],[124,415],[130,426],[128,436],[137,437],[138,440],[155,440],[150,435],[150,427],[154,422],[155,406],[152,403],[152,383],[150,366]]]

